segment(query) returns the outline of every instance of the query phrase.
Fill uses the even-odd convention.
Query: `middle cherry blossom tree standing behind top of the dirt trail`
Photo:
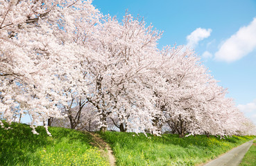
[[[99,33],[99,43],[92,46],[96,54],[88,58],[92,95],[87,100],[99,110],[101,131],[112,116],[120,131],[144,131],[152,119],[150,112],[155,111],[153,91],[145,82],[155,68],[161,33],[128,13],[121,24],[107,17]]]

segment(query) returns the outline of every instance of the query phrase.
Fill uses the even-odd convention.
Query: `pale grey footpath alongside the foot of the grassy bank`
[[[238,166],[248,149],[250,149],[251,145],[253,145],[253,140],[250,140],[239,147],[235,147],[234,149],[228,151],[228,153],[210,161],[204,166]]]

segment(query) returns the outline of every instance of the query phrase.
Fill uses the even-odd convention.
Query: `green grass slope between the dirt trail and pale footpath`
[[[135,136],[133,136],[135,135]],[[233,136],[220,139],[214,136],[189,136],[164,134],[162,137],[140,133],[101,133],[109,142],[117,158],[117,165],[198,165],[237,147],[253,136]]]

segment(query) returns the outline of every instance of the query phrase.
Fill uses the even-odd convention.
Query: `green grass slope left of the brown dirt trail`
[[[109,165],[99,149],[92,147],[92,137],[71,129],[37,127],[39,135],[26,124],[12,124],[0,129],[0,165]]]

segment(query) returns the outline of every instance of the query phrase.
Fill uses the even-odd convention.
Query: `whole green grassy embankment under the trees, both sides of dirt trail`
[[[71,129],[43,127],[34,135],[25,124],[12,124],[12,130],[0,129],[0,165],[109,165],[92,147],[92,136]],[[134,135],[134,136],[133,136]],[[197,165],[253,139],[252,136],[219,139],[214,136],[164,134],[148,138],[140,133],[101,133],[117,158],[117,165]],[[255,138],[255,137],[254,137]]]

